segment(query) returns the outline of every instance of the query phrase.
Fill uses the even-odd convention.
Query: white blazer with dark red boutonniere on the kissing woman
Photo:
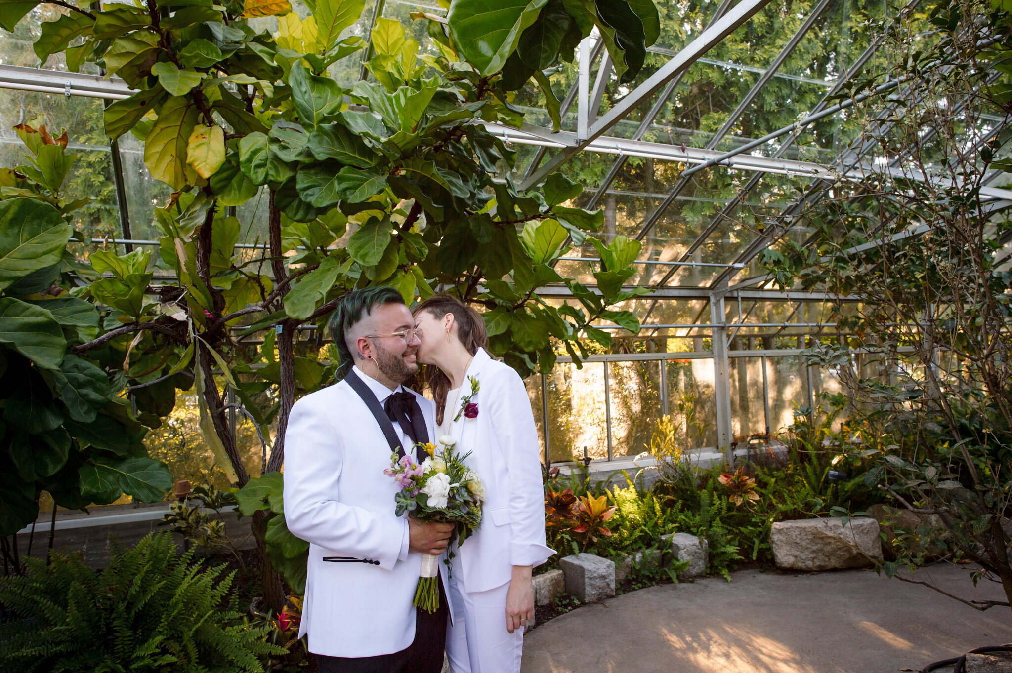
[[[480,385],[471,400],[478,404],[478,416],[460,414],[450,424],[460,455],[472,452],[466,462],[488,494],[481,526],[460,545],[452,561],[454,579],[468,593],[500,587],[510,581],[513,566],[537,566],[555,554],[544,545],[537,428],[523,380],[484,349],[471,361],[459,397],[471,391],[472,376]],[[444,422],[456,415],[459,404],[458,400],[457,408],[446,408]]]

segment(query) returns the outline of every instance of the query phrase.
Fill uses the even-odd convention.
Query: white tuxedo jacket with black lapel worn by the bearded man
[[[348,376],[359,376],[358,370]],[[359,378],[381,404],[394,392]],[[412,392],[431,437],[435,406]],[[410,452],[410,440],[403,432],[401,439]],[[421,555],[408,553],[407,516],[394,513],[397,482],[383,473],[390,463],[380,424],[346,381],[291,407],[284,435],[284,518],[293,535],[310,543],[299,632],[309,633],[310,652],[373,657],[400,652],[415,638]]]

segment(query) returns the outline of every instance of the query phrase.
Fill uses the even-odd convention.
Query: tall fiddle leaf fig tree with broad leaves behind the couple
[[[294,335],[308,325],[321,333],[356,287],[390,285],[409,303],[436,287],[455,293],[483,310],[490,350],[522,376],[550,370],[560,345],[578,362],[586,355],[583,339],[608,346],[607,332],[593,326],[600,319],[639,328],[632,313],[614,308],[644,291],[622,286],[634,274],[639,242],[595,237],[602,213],[569,205],[582,187],[561,175],[520,189],[512,178],[515,153],[488,124],[523,123],[510,92],[531,77],[554,100],[549,75],[560,60],[572,60],[594,25],[626,81],[657,36],[652,3],[454,2],[447,18],[418,15],[436,54],[423,52],[401,23],[381,18],[364,55],[368,77],[350,88],[328,69],[367,45],[345,36],[363,1],[308,4],[306,17],[287,2],[254,0],[71,6],[44,24],[36,42],[40,59],[65,52],[69,64],[94,62],[136,90],[105,109],[106,132],[143,137],[148,171],[173,190],[154,223],[158,265],[178,282],[152,287],[148,253],[93,253],[82,272],[90,276],[73,296],[104,317],[66,348],[78,363],[123,354],[96,367],[112,393],[136,391],[140,417],[152,422],[171,411],[166,402],[177,387],[192,384],[208,448],[240,487],[250,475],[226,421],[224,393],[235,392],[265,437],[276,421],[262,470],[278,472],[296,397],[330,384],[337,365],[336,350],[297,345]],[[0,5],[0,25],[12,27],[33,5]],[[503,10],[500,18],[490,15],[494,10]],[[264,16],[277,16],[275,32],[253,27]],[[69,46],[80,37],[82,44]],[[32,207],[57,198],[46,187],[54,170],[64,169],[39,165],[32,174],[43,185]],[[250,261],[236,254],[242,223],[228,208],[262,193],[267,248]],[[52,256],[69,230],[38,235],[39,254],[56,246],[45,252]],[[556,271],[569,242],[597,249],[596,288]],[[15,251],[8,266],[18,259]],[[3,273],[0,259],[0,280]],[[574,299],[542,299],[538,289],[550,284],[568,286]],[[0,329],[2,319],[0,313]],[[51,343],[49,351],[37,357],[59,364],[66,348],[51,331],[51,341],[40,342]],[[262,335],[260,348],[243,340],[254,334]],[[35,434],[55,431],[59,423],[43,411]],[[113,479],[103,463],[92,467],[86,480],[95,488],[111,492],[113,482],[133,483],[118,473]],[[284,596],[271,560],[297,558],[301,548],[282,530],[276,507],[249,501],[268,569],[265,599],[280,608]],[[281,556],[270,553],[272,541],[287,545]],[[285,574],[298,585],[298,572]]]

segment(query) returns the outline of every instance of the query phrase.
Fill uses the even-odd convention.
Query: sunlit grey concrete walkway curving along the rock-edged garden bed
[[[919,570],[962,598],[1001,587],[951,566]],[[747,570],[587,605],[524,638],[522,673],[887,673],[1012,642],[1012,611],[981,612],[870,570]],[[985,586],[987,584],[987,586]]]

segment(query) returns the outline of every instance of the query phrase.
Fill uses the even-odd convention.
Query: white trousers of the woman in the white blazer
[[[510,583],[488,591],[460,591],[449,581],[454,623],[446,631],[450,673],[520,673],[523,628],[506,631],[506,592]]]

